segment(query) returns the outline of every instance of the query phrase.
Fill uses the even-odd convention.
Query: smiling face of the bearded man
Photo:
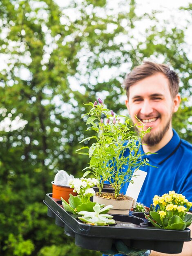
[[[168,79],[157,73],[130,86],[129,99],[125,104],[134,124],[139,125],[137,117],[143,123],[144,130],[152,127],[143,142],[153,146],[172,129],[172,114],[177,111],[179,102],[178,94],[174,99],[171,97]]]

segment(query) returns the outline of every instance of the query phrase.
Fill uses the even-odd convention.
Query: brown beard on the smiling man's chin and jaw
[[[167,121],[167,124],[165,125],[165,127],[163,128],[163,130],[159,131],[159,132],[149,132],[146,133],[143,137],[142,142],[149,145],[149,146],[154,146],[156,144],[158,144],[161,139],[163,139],[163,136],[165,135],[165,132],[167,132],[167,130],[170,128],[170,124],[171,124],[171,120],[172,120],[172,115],[170,115],[170,119]]]

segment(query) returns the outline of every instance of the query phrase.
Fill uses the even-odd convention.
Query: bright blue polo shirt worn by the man
[[[140,148],[144,154],[143,148]],[[127,154],[129,154],[127,152]],[[125,156],[127,156],[125,152]],[[156,154],[145,156],[152,166],[142,166],[140,170],[147,172],[147,176],[138,195],[137,202],[150,207],[154,195],[163,195],[174,190],[185,195],[192,202],[192,145],[180,139],[173,130],[172,139]],[[125,194],[129,182],[121,189]],[[190,209],[192,211],[192,208]]]

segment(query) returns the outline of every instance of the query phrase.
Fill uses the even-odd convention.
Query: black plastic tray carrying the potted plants
[[[56,225],[64,227],[65,234],[75,238],[75,244],[85,249],[105,251],[112,248],[115,239],[137,249],[152,249],[157,252],[180,253],[184,241],[190,241],[190,229],[184,231],[157,229],[148,226],[147,220],[131,215],[116,215],[116,225],[93,226],[77,219],[77,216],[66,212],[62,202],[46,194],[43,201],[47,215],[55,218]]]

